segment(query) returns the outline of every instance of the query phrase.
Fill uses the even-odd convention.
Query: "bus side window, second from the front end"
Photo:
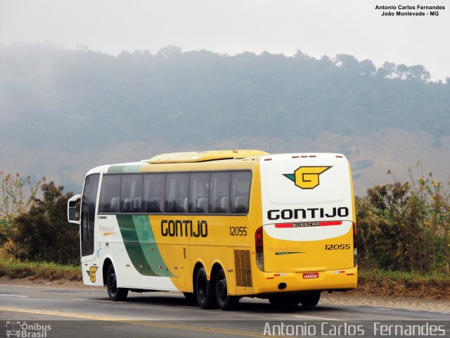
[[[123,175],[122,189],[120,192],[120,212],[140,213],[142,201],[143,175]]]

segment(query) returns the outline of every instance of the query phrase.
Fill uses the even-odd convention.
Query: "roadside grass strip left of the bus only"
[[[20,262],[0,256],[0,277],[29,278],[30,280],[82,280],[78,265],[45,262]]]

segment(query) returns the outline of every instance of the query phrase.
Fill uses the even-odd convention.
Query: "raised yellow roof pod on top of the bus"
[[[231,160],[247,158],[250,156],[268,155],[260,150],[214,150],[214,151],[188,151],[185,153],[160,154],[150,158],[147,163],[189,163],[217,160]]]

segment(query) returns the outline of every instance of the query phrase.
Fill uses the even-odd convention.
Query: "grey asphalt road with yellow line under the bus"
[[[0,285],[0,337],[400,337],[399,330],[406,337],[410,325],[418,325],[416,337],[450,337],[449,320],[444,312],[372,306],[279,310],[247,298],[236,311],[202,310],[174,292],[129,293],[112,302],[105,289]]]

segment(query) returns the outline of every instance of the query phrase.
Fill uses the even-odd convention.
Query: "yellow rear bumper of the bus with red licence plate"
[[[302,273],[255,273],[255,294],[356,289],[358,268]]]

